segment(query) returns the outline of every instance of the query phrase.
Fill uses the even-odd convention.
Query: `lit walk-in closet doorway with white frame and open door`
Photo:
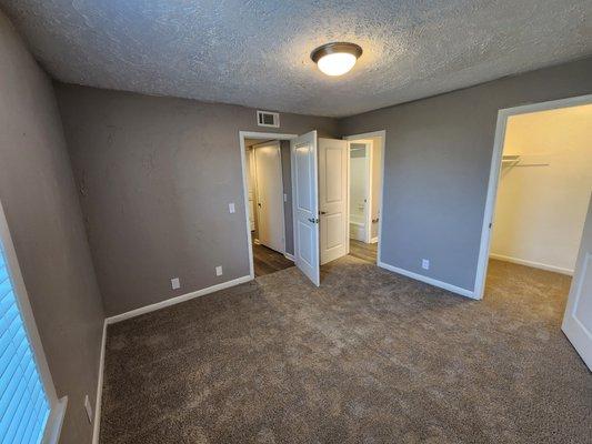
[[[566,305],[562,330],[589,366],[591,139],[592,95],[500,111],[474,289],[504,289],[524,313]]]

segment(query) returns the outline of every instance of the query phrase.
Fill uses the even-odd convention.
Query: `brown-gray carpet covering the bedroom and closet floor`
[[[471,301],[345,256],[108,332],[101,442],[590,443],[570,279],[492,261]]]

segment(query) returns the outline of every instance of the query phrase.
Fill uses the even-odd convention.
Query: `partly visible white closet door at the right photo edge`
[[[592,200],[561,330],[592,370]]]

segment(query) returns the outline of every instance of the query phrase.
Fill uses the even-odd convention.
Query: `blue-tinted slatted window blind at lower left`
[[[0,244],[0,443],[40,443],[50,404]]]

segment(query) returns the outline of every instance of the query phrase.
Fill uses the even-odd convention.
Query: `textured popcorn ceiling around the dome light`
[[[592,53],[592,0],[0,0],[58,80],[342,117]],[[310,52],[352,41],[342,78]]]

